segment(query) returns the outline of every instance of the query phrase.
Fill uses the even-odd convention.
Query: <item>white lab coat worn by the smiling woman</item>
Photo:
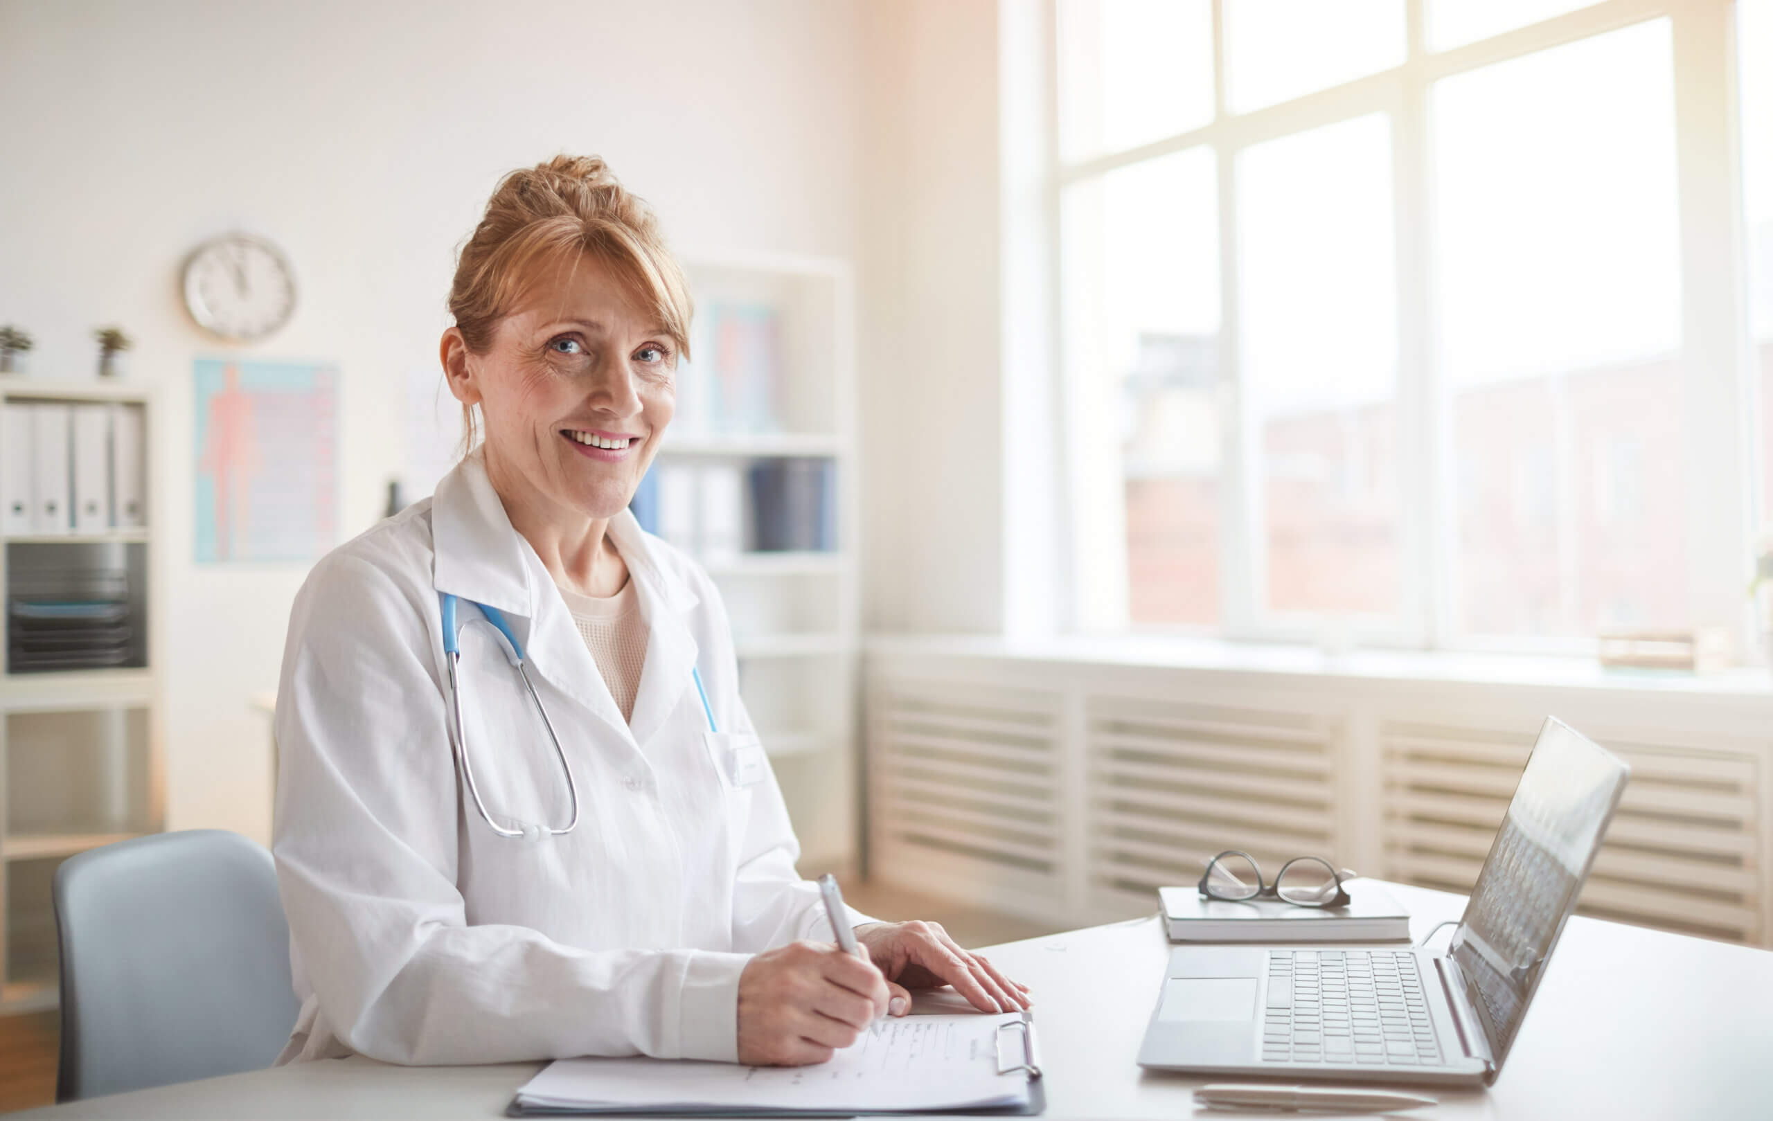
[[[775,775],[738,786],[704,736],[691,665],[720,733],[755,736],[713,582],[626,511],[608,532],[649,624],[631,722],[479,456],[301,587],[277,695],[273,853],[301,1000],[280,1061],[734,1061],[750,954],[832,938]],[[440,592],[505,612],[527,646],[578,779],[571,834],[500,837],[466,800]],[[461,646],[488,809],[562,825],[564,775],[516,670],[484,623]]]

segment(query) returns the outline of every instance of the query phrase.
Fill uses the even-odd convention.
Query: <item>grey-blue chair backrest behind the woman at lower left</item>
[[[62,1061],[73,1101],[269,1066],[296,1022],[271,853],[223,830],[156,834],[55,871]]]

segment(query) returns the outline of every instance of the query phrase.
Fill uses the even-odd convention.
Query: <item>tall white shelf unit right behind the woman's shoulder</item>
[[[777,332],[773,424],[732,431],[683,410],[658,463],[828,459],[835,548],[707,555],[732,619],[739,690],[769,754],[801,844],[801,871],[849,871],[858,843],[858,580],[855,284],[840,261],[702,259],[684,271],[702,332],[722,309],[768,309]],[[711,364],[715,339],[691,341]],[[706,365],[704,365],[706,369]]]

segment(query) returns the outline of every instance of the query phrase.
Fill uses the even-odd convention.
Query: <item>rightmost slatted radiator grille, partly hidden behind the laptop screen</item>
[[[1406,883],[1470,890],[1532,749],[1530,733],[1388,722],[1386,857]],[[1631,782],[1580,910],[1762,940],[1766,874],[1753,752],[1608,741]]]

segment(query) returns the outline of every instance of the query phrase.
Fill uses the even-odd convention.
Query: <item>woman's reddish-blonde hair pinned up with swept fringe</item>
[[[484,355],[498,321],[534,286],[543,266],[576,270],[582,257],[608,268],[658,321],[677,355],[690,355],[695,307],[683,270],[665,247],[652,208],[617,183],[599,156],[555,156],[498,181],[486,215],[456,257],[449,310],[468,349]],[[463,406],[463,447],[477,440]]]

